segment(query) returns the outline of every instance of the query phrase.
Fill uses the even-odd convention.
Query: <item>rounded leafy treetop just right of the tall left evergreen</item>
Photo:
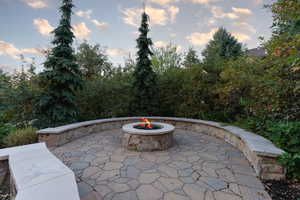
[[[78,48],[76,58],[85,79],[107,77],[112,73],[112,63],[108,61],[104,49],[99,44],[93,46],[83,42]]]

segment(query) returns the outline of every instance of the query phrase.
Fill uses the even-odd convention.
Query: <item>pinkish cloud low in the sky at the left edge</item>
[[[21,54],[43,55],[44,50],[40,48],[19,49],[13,44],[0,40],[0,55],[9,56],[12,59],[21,59]]]

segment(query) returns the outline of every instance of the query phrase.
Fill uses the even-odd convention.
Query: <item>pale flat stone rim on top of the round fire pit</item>
[[[160,122],[151,122],[153,125],[160,126],[160,129],[154,130],[144,130],[144,129],[137,129],[134,126],[141,124],[140,122],[129,123],[122,126],[122,130],[124,133],[129,133],[133,135],[163,135],[175,130],[175,127],[171,124],[167,123],[160,123]]]

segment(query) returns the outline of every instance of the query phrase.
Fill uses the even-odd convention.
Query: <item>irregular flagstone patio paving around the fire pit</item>
[[[53,150],[75,173],[81,200],[270,200],[243,154],[224,141],[176,130],[163,152],[121,147],[121,130]]]

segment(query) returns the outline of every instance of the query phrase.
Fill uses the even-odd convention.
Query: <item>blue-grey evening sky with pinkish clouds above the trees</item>
[[[155,47],[172,43],[179,53],[193,47],[199,56],[218,27],[249,49],[271,35],[272,0],[147,0],[150,37]],[[143,0],[73,0],[74,47],[100,44],[114,64],[136,54]],[[42,70],[43,50],[51,48],[61,0],[0,0],[0,69],[13,72],[32,58]],[[23,55],[24,58],[22,59]],[[26,65],[25,65],[26,67]]]

